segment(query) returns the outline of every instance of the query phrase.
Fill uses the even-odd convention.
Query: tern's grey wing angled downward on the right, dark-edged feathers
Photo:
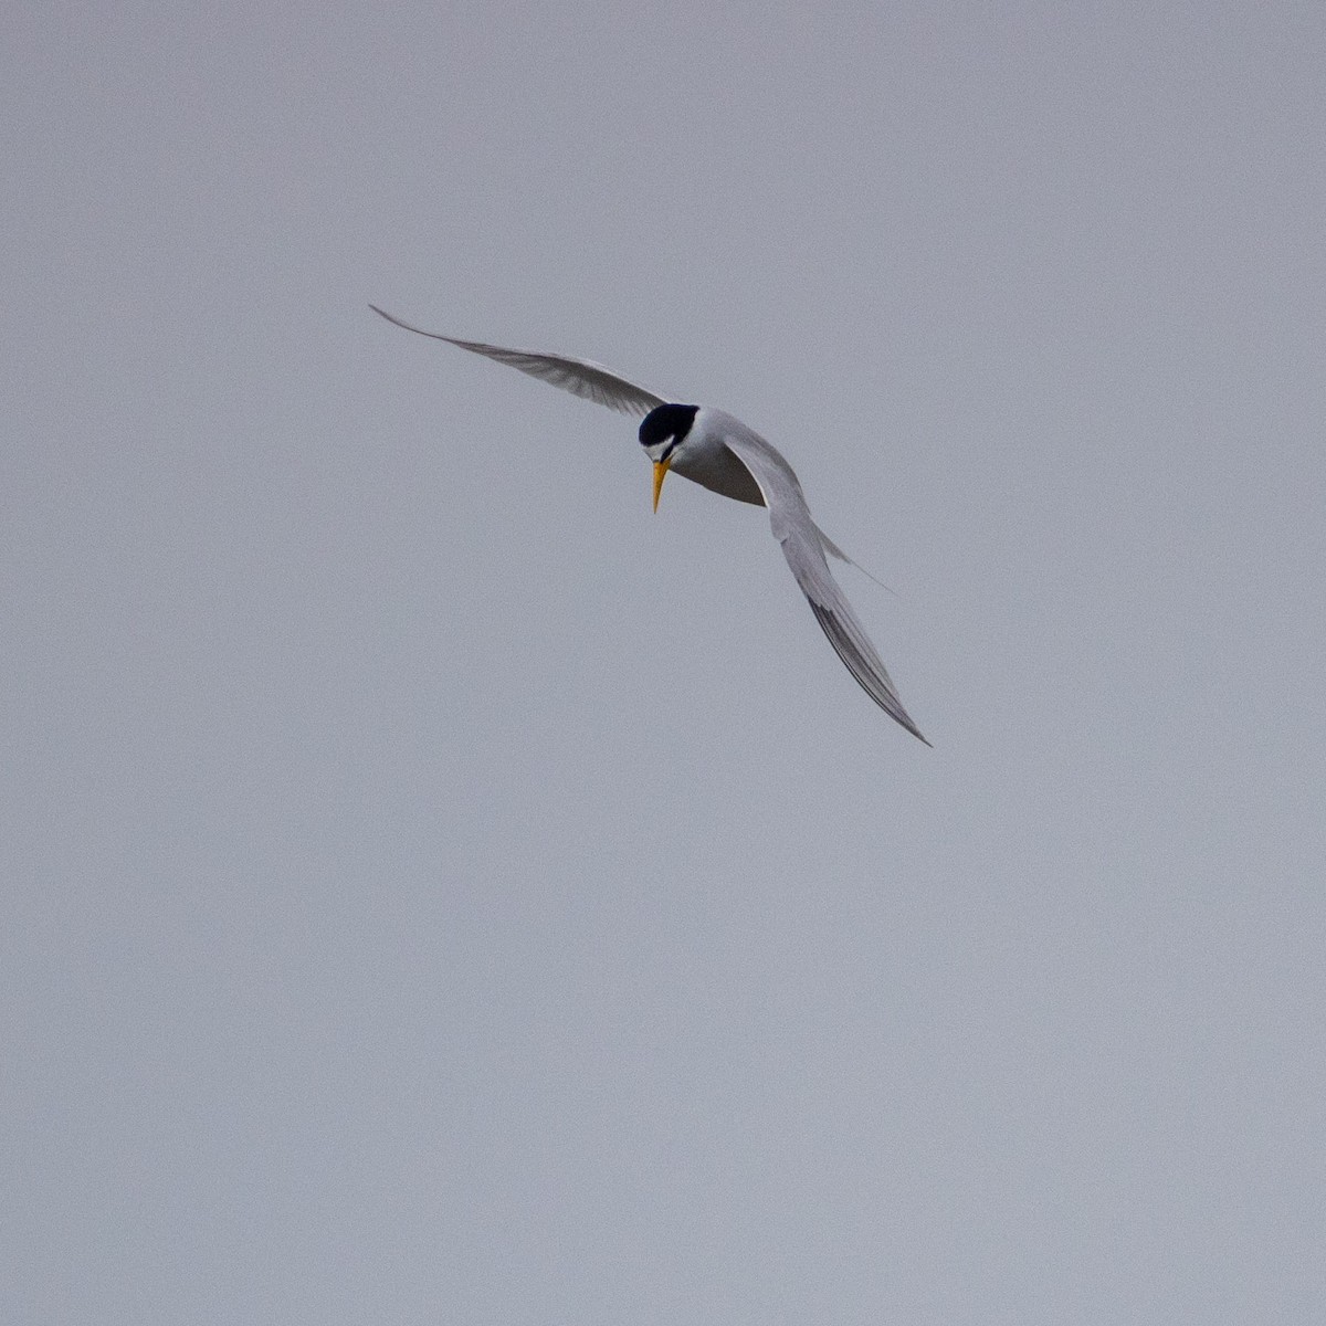
[[[764,438],[737,419],[731,419],[723,440],[760,485],[769,508],[773,537],[782,545],[782,556],[788,558],[801,593],[810,602],[810,611],[829,636],[829,643],[838,651],[838,658],[884,713],[914,737],[926,741],[920,728],[903,708],[888,670],[829,570],[825,548],[829,546],[834,553],[837,549],[829,545],[810,518],[810,508],[792,465]],[[930,743],[926,741],[926,745]]]

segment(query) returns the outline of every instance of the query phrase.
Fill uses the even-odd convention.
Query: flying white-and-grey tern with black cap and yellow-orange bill
[[[605,369],[590,359],[538,350],[508,350],[481,341],[461,341],[411,326],[400,318],[369,305],[374,313],[406,332],[446,341],[447,345],[507,363],[532,378],[549,382],[586,400],[640,418],[640,446],[654,463],[654,509],[668,472],[682,475],[735,501],[769,508],[773,537],[792,568],[801,593],[810,603],[829,643],[857,679],[861,688],[884,713],[900,723],[914,737],[922,736],[912,723],[898,690],[888,676],[870,636],[866,635],[846,595],[829,570],[825,554],[857,564],[831,542],[810,518],[801,483],[792,465],[768,442],[740,419],[709,406],[688,406],[660,396],[646,387]],[[930,745],[930,741],[926,741]]]

